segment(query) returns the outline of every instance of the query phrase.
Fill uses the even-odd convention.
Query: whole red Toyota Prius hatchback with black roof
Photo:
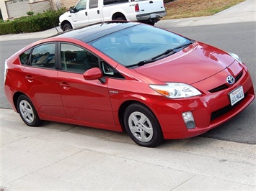
[[[127,131],[141,146],[197,136],[255,98],[233,53],[136,22],[103,22],[32,43],[5,62],[6,97],[43,121]]]

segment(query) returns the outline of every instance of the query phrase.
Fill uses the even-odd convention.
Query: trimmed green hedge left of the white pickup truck
[[[58,17],[60,17],[66,9],[57,11],[44,11],[28,17],[21,17],[13,21],[0,22],[0,35],[17,34],[22,32],[40,32],[58,26]]]

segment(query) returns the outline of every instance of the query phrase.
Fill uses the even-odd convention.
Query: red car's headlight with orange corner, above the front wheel
[[[149,85],[150,88],[167,98],[189,98],[201,95],[199,90],[185,83],[167,83],[167,85]]]

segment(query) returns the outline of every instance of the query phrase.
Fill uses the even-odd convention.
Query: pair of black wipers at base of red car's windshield
[[[173,55],[173,54],[176,53],[175,50],[180,49],[180,48],[188,47],[189,45],[192,45],[194,42],[195,42],[195,41],[192,41],[192,40],[191,40],[190,42],[188,42],[188,43],[186,43],[186,44],[180,45],[180,46],[175,47],[175,48],[172,48],[172,49],[168,49],[168,50],[166,50],[165,52],[161,53],[160,55],[156,55],[155,57],[150,58],[149,60],[142,60],[142,61],[140,61],[140,62],[138,62],[138,63],[136,63],[136,64],[134,64],[134,65],[127,65],[127,66],[125,66],[125,67],[141,66],[141,65],[148,64],[148,63],[150,63],[150,62],[154,62],[154,61],[156,60],[156,58],[162,57],[162,56],[164,56],[164,55]]]

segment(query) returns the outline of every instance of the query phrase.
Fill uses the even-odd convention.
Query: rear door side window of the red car
[[[35,47],[31,54],[31,65],[55,69],[55,43]]]

